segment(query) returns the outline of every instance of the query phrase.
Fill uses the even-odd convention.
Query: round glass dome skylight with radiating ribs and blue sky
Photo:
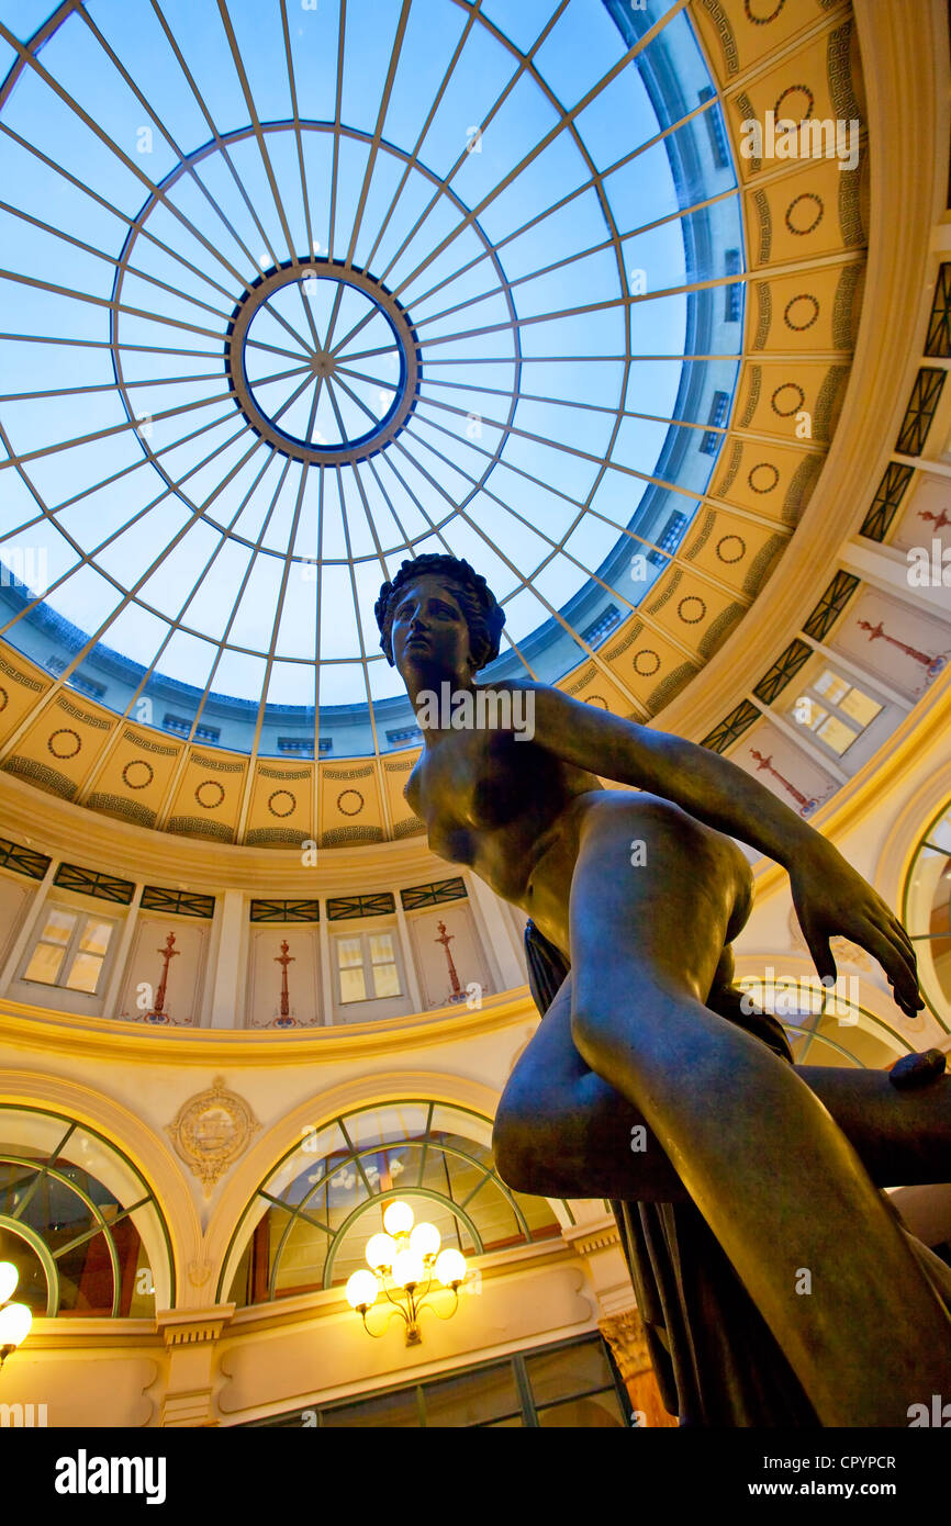
[[[414,740],[372,603],[449,551],[554,681],[676,554],[739,197],[656,0],[0,5],[0,633],[258,754]],[[632,577],[632,559],[638,575]]]

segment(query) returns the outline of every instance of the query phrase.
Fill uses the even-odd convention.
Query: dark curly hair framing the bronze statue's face
[[[426,607],[417,597],[423,592],[427,595]],[[440,594],[444,595],[444,600],[438,598]],[[440,618],[441,606],[450,612],[444,618]],[[389,665],[392,667],[395,662],[403,671],[400,658],[414,620],[417,624],[430,624],[432,639],[438,633],[447,659],[452,659],[453,641],[443,630],[450,623],[452,612],[458,612],[464,626],[461,635],[466,645],[466,661],[472,671],[478,673],[487,662],[498,658],[502,626],[505,624],[505,612],[485,578],[470,568],[469,562],[459,562],[456,557],[429,552],[412,562],[403,562],[392,583],[383,583],[374,610],[380,627],[380,645]],[[440,627],[438,632],[437,627]],[[423,645],[424,642],[420,642],[420,650]],[[432,655],[435,656],[435,653]]]

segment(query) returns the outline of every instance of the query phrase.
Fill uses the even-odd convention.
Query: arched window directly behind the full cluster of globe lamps
[[[261,1303],[345,1283],[397,1196],[467,1256],[559,1235],[545,1198],[504,1186],[490,1140],[488,1119],[441,1102],[362,1108],[305,1131],[244,1212],[232,1247],[256,1222],[237,1267],[234,1254],[226,1260],[227,1299]]]

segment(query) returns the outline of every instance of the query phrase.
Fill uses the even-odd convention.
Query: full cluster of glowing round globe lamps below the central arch
[[[366,1267],[354,1271],[347,1283],[347,1302],[363,1320],[363,1329],[374,1338],[383,1335],[394,1312],[406,1322],[406,1344],[418,1346],[420,1314],[432,1309],[441,1320],[455,1314],[459,1302],[459,1283],[466,1277],[466,1257],[458,1250],[440,1250],[440,1231],[435,1224],[414,1224],[408,1202],[391,1202],[383,1215],[383,1235],[371,1235],[366,1241]],[[449,1314],[440,1314],[426,1299],[434,1291],[434,1280],[452,1289],[453,1305]],[[389,1303],[386,1325],[372,1331],[366,1314],[383,1297]],[[386,1303],[379,1303],[386,1308]]]

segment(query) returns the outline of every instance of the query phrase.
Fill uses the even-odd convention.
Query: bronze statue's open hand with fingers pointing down
[[[917,989],[917,963],[908,934],[861,874],[826,838],[797,852],[789,865],[792,903],[815,967],[823,980],[837,977],[829,938],[850,938],[885,971],[895,1001],[914,1016],[925,1006]]]

